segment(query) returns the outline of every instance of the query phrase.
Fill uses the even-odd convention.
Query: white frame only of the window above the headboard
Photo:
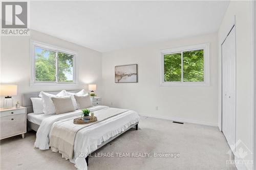
[[[55,82],[36,82],[35,81],[35,47],[44,48],[46,50],[56,52],[56,81]],[[73,55],[73,82],[58,82],[57,77],[57,55],[58,52]],[[30,41],[30,61],[31,61],[31,74],[30,74],[30,86],[33,85],[77,85],[78,80],[78,68],[77,68],[77,52],[67,50],[65,48],[53,46],[47,43]]]

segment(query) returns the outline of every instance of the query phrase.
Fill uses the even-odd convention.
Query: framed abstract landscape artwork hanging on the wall
[[[137,83],[138,64],[115,66],[115,83]]]

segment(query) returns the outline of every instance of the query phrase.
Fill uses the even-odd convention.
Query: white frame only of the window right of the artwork
[[[186,51],[204,50],[204,81],[203,82],[183,82],[183,53]],[[181,82],[164,81],[164,55],[181,53]],[[203,43],[197,45],[170,48],[160,51],[160,86],[209,86],[210,85],[210,44]]]

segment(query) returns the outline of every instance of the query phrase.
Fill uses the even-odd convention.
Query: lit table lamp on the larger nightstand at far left
[[[0,85],[0,95],[5,96],[4,108],[12,108],[13,100],[11,95],[17,95],[17,85]]]

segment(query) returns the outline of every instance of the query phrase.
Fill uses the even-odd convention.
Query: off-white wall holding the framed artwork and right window
[[[160,50],[205,42],[210,43],[210,86],[159,86]],[[114,67],[126,64],[138,64],[138,83],[114,83]],[[102,83],[105,105],[182,122],[217,126],[217,33],[103,53]]]

